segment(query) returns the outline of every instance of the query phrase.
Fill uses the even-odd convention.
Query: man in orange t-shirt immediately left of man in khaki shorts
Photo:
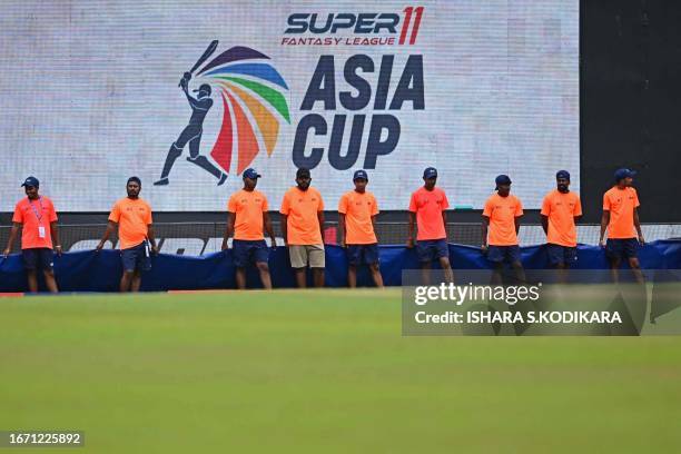
[[[255,169],[246,169],[243,174],[244,188],[234,193],[227,203],[227,227],[223,238],[223,250],[228,248],[227,240],[234,234],[233,257],[236,266],[236,283],[239,289],[246,288],[246,267],[255,264],[260,273],[263,287],[272,288],[269,276],[269,250],[263,227],[272,240],[272,247],[277,247],[269,215],[267,214],[267,197],[256,190],[260,175]]]

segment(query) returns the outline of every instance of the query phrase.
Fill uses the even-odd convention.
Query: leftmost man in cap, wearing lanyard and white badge
[[[38,292],[38,270],[40,269],[48,290],[57,293],[52,245],[55,251],[61,255],[61,244],[59,243],[55,205],[49,198],[38,195],[40,188],[38,178],[28,177],[21,186],[24,188],[27,198],[19,200],[14,207],[12,229],[3,256],[7,257],[12,251],[14,239],[21,228],[21,255],[29,292]]]

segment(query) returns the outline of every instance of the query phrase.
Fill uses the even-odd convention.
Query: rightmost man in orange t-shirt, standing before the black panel
[[[635,171],[619,169],[614,174],[615,185],[603,195],[603,216],[601,218],[601,237],[599,245],[605,247],[605,254],[610,260],[612,277],[619,279],[618,268],[622,259],[629,261],[629,266],[636,280],[643,283],[643,274],[638,258],[638,246],[645,244],[641,224],[639,221],[639,195],[632,187]],[[603,238],[608,230],[608,244]],[[635,231],[634,231],[635,230]]]

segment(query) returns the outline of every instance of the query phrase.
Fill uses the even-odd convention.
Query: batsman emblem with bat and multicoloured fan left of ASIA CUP
[[[290,124],[288,103],[283,91],[288,90],[282,75],[268,62],[269,57],[247,47],[233,47],[206,63],[217,49],[213,41],[194,67],[179,81],[191,117],[179,137],[168,150],[161,177],[154,185],[166,186],[170,170],[185,148],[187,160],[218,180],[227,180],[231,161],[236,155],[236,171],[241,174],[261,151],[261,145],[272,156],[279,136],[282,121]],[[193,75],[199,79],[197,89],[189,92]],[[204,119],[213,107],[211,93],[219,92],[223,101],[223,119],[218,137],[208,159],[201,154]],[[261,144],[261,145],[260,145]]]

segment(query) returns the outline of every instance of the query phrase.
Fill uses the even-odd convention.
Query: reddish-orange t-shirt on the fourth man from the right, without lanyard
[[[442,211],[448,207],[447,196],[440,188],[427,190],[422,186],[412,194],[409,211],[416,214],[417,240],[444,239],[447,237]]]

